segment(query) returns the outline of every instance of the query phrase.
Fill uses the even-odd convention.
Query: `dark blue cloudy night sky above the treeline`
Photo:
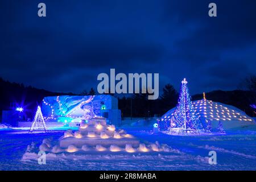
[[[0,77],[51,91],[97,88],[110,68],[159,73],[160,89],[186,77],[191,93],[256,74],[256,1],[2,0],[0,20]]]

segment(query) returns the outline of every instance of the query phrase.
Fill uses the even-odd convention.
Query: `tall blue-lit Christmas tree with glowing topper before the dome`
[[[189,96],[187,83],[185,78],[181,81],[179,100],[172,114],[169,127],[171,132],[173,132],[174,129],[178,129],[179,133],[181,131],[182,134],[187,134],[188,131],[190,133],[199,133],[200,130],[203,130],[199,114]]]

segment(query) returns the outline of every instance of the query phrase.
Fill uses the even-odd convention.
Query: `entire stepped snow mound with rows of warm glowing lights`
[[[31,144],[32,146],[32,144]],[[92,156],[100,159],[109,158],[115,154],[133,155],[156,154],[156,152],[173,152],[166,144],[141,143],[133,135],[124,130],[116,130],[114,125],[107,125],[105,118],[92,118],[88,123],[82,122],[79,130],[65,131],[59,140],[44,139],[39,148],[28,146],[23,155],[24,160],[38,160],[38,152],[46,152],[47,159],[91,159]],[[157,154],[156,154],[157,155]],[[115,157],[113,157],[115,158]]]

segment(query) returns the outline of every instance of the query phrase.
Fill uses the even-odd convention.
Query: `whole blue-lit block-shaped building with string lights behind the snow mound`
[[[104,117],[109,124],[121,123],[118,100],[110,95],[45,97],[42,114],[46,122],[63,122],[69,126],[94,117]]]

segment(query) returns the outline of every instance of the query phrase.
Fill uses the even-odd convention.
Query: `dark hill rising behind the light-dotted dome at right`
[[[253,109],[250,104],[256,103],[256,92],[248,90],[233,90],[233,91],[223,91],[214,90],[212,92],[205,93],[207,100],[221,102],[223,104],[228,104],[235,106],[251,117],[255,117]],[[192,96],[192,100],[201,100],[203,94],[196,94]]]

